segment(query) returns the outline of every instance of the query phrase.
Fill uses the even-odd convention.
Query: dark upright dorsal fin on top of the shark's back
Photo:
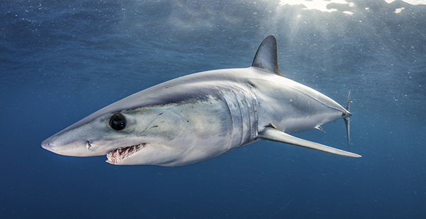
[[[284,76],[278,67],[277,39],[275,36],[267,36],[259,46],[256,55],[254,55],[252,67],[269,70],[276,75]]]

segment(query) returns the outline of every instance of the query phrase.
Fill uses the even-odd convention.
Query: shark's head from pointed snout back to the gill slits
[[[191,89],[173,82],[150,87],[90,114],[41,146],[66,156],[107,155],[108,163],[118,165],[183,166],[224,154],[224,144],[216,141],[222,141],[222,131],[229,135],[222,129],[228,114],[202,114],[206,107],[209,114],[222,112],[224,103],[200,92],[185,95]],[[217,132],[204,129],[206,124]],[[200,141],[219,146],[197,147]]]

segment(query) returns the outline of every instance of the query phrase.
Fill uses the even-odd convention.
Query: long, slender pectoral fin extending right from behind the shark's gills
[[[359,154],[354,154],[348,151],[342,151],[340,149],[332,148],[331,146],[325,146],[324,144],[318,144],[305,139],[299,139],[285,132],[281,132],[278,129],[266,127],[259,133],[259,137],[266,140],[278,141],[285,144],[293,144],[296,146],[306,147],[308,149],[315,149],[318,151],[324,151],[330,154],[337,154],[342,156],[361,157]]]

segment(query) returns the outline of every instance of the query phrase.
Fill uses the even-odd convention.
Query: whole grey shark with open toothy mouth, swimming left
[[[249,68],[210,70],[149,87],[90,114],[41,146],[67,156],[103,156],[117,165],[184,166],[271,140],[342,156],[292,133],[345,119],[347,110],[285,78],[268,36]],[[349,142],[349,139],[348,139]]]

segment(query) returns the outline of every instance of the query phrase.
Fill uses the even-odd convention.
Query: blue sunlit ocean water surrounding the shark
[[[426,218],[426,6],[350,2],[3,2],[1,218]],[[159,82],[249,67],[269,34],[286,77],[342,105],[351,90],[362,158],[262,141],[168,168],[40,148]],[[324,129],[297,136],[347,149],[343,121]]]

